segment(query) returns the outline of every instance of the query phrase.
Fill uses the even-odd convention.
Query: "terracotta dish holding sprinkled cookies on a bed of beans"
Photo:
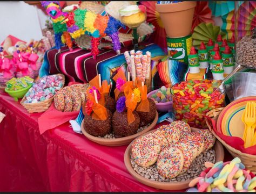
[[[153,130],[153,131],[156,131],[156,130]],[[146,135],[146,134],[151,133],[153,131],[147,132],[143,135]],[[192,128],[191,127],[191,131],[192,132],[197,132],[198,128]],[[190,183],[190,181],[192,179],[189,179],[189,180],[186,180],[186,181],[181,181],[181,182],[166,183],[166,182],[152,181],[152,180],[147,179],[147,178],[139,175],[138,173],[136,173],[136,171],[133,170],[133,168],[132,168],[132,164],[131,164],[131,160],[130,160],[131,159],[131,146],[132,146],[133,141],[130,143],[130,145],[125,150],[124,164],[125,164],[126,169],[129,171],[129,173],[135,179],[137,179],[137,181],[139,181],[140,183],[143,183],[145,185],[152,186],[153,188],[163,189],[163,190],[183,190],[183,189],[186,189],[186,188],[189,187],[188,184]],[[215,141],[213,149],[215,150],[215,153],[217,153],[216,156],[215,156],[216,157],[215,162],[223,161],[224,160],[224,149],[223,149],[223,146],[221,145],[221,143],[218,140]]]

